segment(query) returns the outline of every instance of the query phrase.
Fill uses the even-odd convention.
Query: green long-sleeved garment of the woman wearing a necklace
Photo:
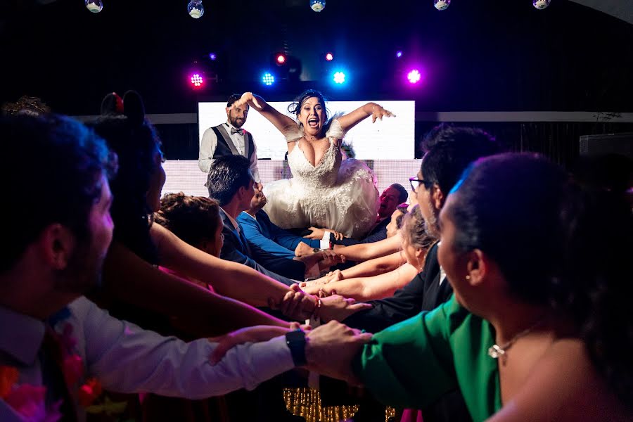
[[[352,366],[379,401],[394,407],[421,409],[460,388],[478,421],[501,407],[497,361],[487,356],[493,343],[492,326],[452,296],[375,334]]]

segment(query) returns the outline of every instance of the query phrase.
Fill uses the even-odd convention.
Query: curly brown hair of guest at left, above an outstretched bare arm
[[[189,245],[197,246],[214,238],[219,224],[219,204],[206,196],[167,193],[160,199],[154,222]]]

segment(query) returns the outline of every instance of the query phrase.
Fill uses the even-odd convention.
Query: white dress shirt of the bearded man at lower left
[[[77,341],[74,352],[82,358],[86,378],[96,377],[106,390],[203,399],[240,388],[252,390],[294,367],[283,336],[237,345],[212,366],[209,356],[217,343],[205,338],[185,343],[163,337],[115,319],[84,297],[68,309],[70,316],[54,329],[61,333],[67,324],[72,326],[72,338]],[[0,307],[0,321],[0,365],[18,368],[18,384],[41,385],[37,353],[44,323],[4,307]],[[78,410],[84,419],[83,409]],[[0,399],[0,421],[23,419]]]

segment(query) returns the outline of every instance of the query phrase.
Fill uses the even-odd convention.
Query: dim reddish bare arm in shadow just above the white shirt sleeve
[[[106,293],[123,302],[177,316],[198,336],[217,335],[255,324],[288,326],[286,321],[245,303],[160,271],[117,242],[108,250],[103,279]]]

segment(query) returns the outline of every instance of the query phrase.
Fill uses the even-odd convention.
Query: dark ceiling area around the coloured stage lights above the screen
[[[633,110],[633,25],[571,1],[537,11],[530,0],[453,0],[440,12],[432,0],[328,0],[314,13],[308,0],[204,0],[199,20],[187,0],[103,1],[98,14],[81,0],[4,3],[0,101],[38,96],[89,115],[107,92],[136,89],[148,113],[191,113],[202,97],[318,87],[335,99],[416,99],[418,110]],[[262,70],[284,48],[312,80],[264,89]],[[325,51],[347,68],[345,89],[322,83]],[[220,82],[189,89],[194,60]],[[400,83],[413,62],[426,71],[415,90]]]

